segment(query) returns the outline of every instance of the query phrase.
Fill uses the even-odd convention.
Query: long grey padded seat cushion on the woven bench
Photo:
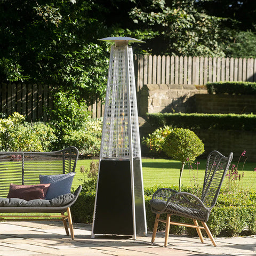
[[[0,207],[59,207],[69,204],[75,195],[69,193],[61,195],[51,200],[34,199],[26,201],[19,198],[3,198],[0,197]]]

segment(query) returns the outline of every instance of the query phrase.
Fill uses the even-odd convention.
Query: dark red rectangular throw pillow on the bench
[[[45,199],[46,192],[50,185],[50,183],[38,185],[15,185],[11,183],[7,198],[20,198],[26,201]]]

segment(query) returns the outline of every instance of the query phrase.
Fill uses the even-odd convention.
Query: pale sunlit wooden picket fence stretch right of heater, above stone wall
[[[139,55],[138,88],[143,84],[256,82],[256,59]]]

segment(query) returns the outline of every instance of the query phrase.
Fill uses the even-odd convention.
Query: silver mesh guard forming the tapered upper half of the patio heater
[[[130,141],[132,141],[131,147]],[[131,47],[111,47],[100,156],[101,158],[140,157]]]

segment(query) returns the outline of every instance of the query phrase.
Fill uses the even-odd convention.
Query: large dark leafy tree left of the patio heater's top
[[[85,98],[103,98],[107,33],[93,1],[1,1],[1,82],[50,83]]]

